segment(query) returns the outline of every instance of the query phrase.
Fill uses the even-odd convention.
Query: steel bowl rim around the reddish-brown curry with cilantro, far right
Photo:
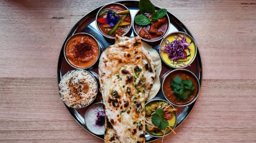
[[[175,103],[171,102],[171,101],[166,97],[166,95],[164,94],[164,88],[163,88],[163,87],[164,87],[164,81],[165,81],[165,79],[167,78],[168,75],[170,75],[171,73],[174,73],[174,72],[176,72],[176,71],[185,71],[185,72],[188,72],[188,74],[192,75],[192,76],[196,79],[196,82],[197,82],[197,85],[198,85],[198,90],[197,90],[196,96],[195,96],[192,100],[190,100],[189,102],[186,102],[186,103],[184,103],[184,104],[175,104]],[[196,99],[198,98],[198,96],[199,96],[199,91],[200,91],[200,83],[199,83],[199,80],[198,80],[198,78],[196,77],[196,75],[193,74],[191,71],[188,71],[187,69],[175,69],[175,70],[172,70],[172,71],[168,71],[167,73],[165,73],[165,74],[163,75],[163,77],[162,77],[162,79],[161,79],[161,89],[162,89],[162,93],[163,93],[164,98],[165,98],[166,100],[168,100],[172,105],[174,105],[174,106],[188,106],[188,105],[192,104],[193,102],[195,102]]]

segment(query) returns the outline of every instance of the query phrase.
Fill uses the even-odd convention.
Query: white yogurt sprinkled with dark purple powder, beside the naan
[[[103,103],[93,104],[85,112],[85,125],[92,133],[103,135],[105,133],[105,118]]]

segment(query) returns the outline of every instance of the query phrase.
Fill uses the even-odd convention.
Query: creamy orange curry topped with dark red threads
[[[99,56],[99,45],[93,37],[78,34],[66,44],[65,56],[71,65],[77,68],[88,68]]]

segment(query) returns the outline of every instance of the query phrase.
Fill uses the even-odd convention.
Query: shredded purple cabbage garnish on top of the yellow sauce
[[[179,39],[181,38],[181,39]],[[168,40],[164,39],[165,46],[160,47],[162,49],[161,52],[167,53],[169,60],[179,61],[179,59],[186,59],[187,53],[184,51],[188,49],[190,54],[190,49],[188,48],[191,43],[187,43],[186,35],[184,34],[183,37],[177,34],[177,37],[174,41],[169,42]]]

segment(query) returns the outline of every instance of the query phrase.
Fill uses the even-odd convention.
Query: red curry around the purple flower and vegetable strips
[[[123,7],[123,6],[119,5],[119,4],[110,4],[110,5],[106,6],[104,10],[106,10],[106,9],[113,10],[115,13],[120,12],[120,11],[124,11],[124,10],[127,10],[125,7]],[[103,11],[103,10],[102,10],[102,11]],[[122,17],[123,15],[120,14],[119,16]],[[98,19],[98,18],[99,18],[99,19],[101,19],[101,18],[107,18],[107,12],[105,12],[105,13],[102,14],[101,16],[97,17],[97,19]],[[103,34],[108,35],[108,36],[111,36],[111,37],[115,37],[116,34],[118,34],[118,35],[123,35],[123,34],[125,34],[125,33],[129,30],[129,28],[130,28],[130,26],[131,26],[131,15],[128,14],[127,17],[124,18],[124,21],[130,23],[130,25],[118,26],[117,29],[114,31],[114,33],[111,34],[111,35],[109,35],[108,33],[109,33],[109,31],[110,31],[113,27],[103,27],[104,24],[101,24],[101,23],[99,23],[99,22],[97,22],[97,23],[98,23],[98,25],[99,25],[100,31],[101,31]]]

